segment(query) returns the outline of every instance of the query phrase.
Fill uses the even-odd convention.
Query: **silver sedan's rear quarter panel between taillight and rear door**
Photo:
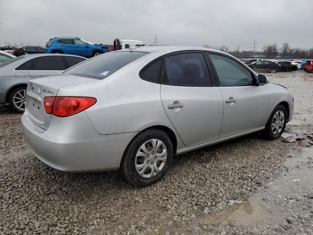
[[[95,97],[96,104],[85,112],[100,134],[138,132],[162,125],[175,133],[179,147],[179,135],[161,102],[160,84],[139,77],[140,69],[151,60],[138,60],[141,62],[130,63],[103,80],[62,88],[58,95]]]

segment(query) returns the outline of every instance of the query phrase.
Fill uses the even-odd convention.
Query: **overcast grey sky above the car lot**
[[[42,45],[54,36],[114,38],[247,50],[288,42],[313,47],[312,0],[0,0],[0,44]]]

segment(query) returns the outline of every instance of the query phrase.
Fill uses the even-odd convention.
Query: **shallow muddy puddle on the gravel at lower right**
[[[291,211],[301,211],[297,198],[313,196],[313,147],[304,148],[285,163],[288,173],[282,173],[255,195],[235,201],[229,208],[215,214],[202,215],[195,224],[205,223],[224,227],[232,221],[237,226],[258,227],[286,222]]]

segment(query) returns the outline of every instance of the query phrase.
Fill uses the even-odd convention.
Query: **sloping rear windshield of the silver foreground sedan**
[[[103,79],[132,61],[147,54],[138,51],[116,51],[105,53],[65,71],[65,74]]]

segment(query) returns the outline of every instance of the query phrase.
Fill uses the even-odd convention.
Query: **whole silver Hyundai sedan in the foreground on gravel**
[[[148,186],[174,155],[258,131],[278,138],[293,107],[286,88],[222,51],[139,47],[30,80],[22,129],[55,169],[121,169]]]

